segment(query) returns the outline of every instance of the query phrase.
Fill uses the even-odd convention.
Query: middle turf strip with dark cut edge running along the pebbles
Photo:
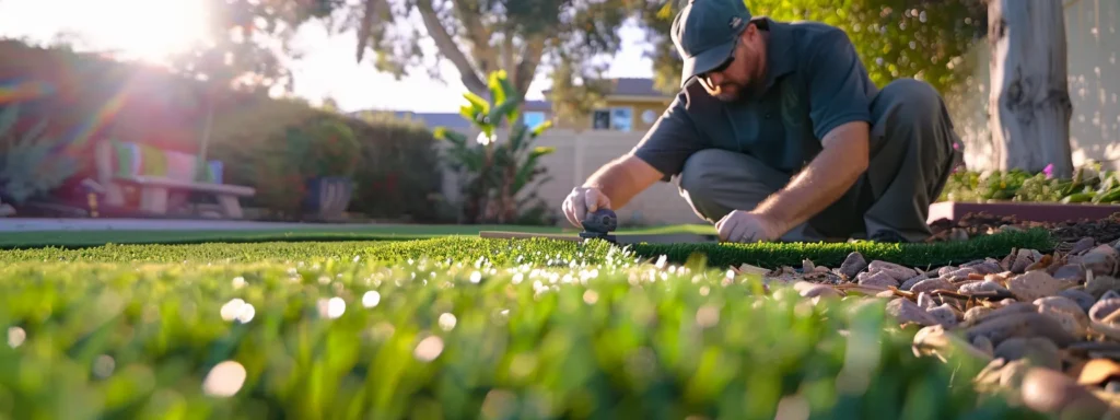
[[[800,267],[805,259],[819,265],[838,267],[852,251],[870,260],[884,260],[912,267],[960,264],[983,258],[1002,258],[1011,249],[1053,250],[1054,243],[1045,230],[1007,232],[972,239],[967,242],[932,244],[857,243],[755,243],[755,244],[635,244],[628,250],[635,258],[660,258],[682,263],[694,254],[709,265],[728,267],[743,263],[776,268]],[[612,246],[603,241],[579,244],[552,240],[493,240],[470,236],[447,236],[413,241],[380,242],[262,242],[212,243],[193,245],[109,245],[81,249],[52,246],[0,252],[0,262],[16,261],[289,261],[297,258],[354,258],[379,261],[405,261],[429,258],[475,262],[485,259],[494,263],[550,262],[579,255],[581,260],[600,263]],[[513,252],[523,250],[524,252]],[[516,256],[514,256],[516,255]],[[560,255],[560,258],[557,258]],[[515,260],[516,259],[516,260]]]

